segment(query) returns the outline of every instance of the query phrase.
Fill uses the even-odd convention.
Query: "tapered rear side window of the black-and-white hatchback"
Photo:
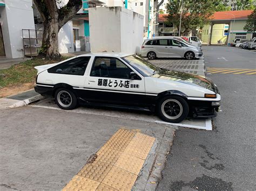
[[[48,69],[49,73],[53,74],[68,74],[68,75],[80,75],[83,76],[85,69],[88,65],[91,56],[80,56],[72,60],[60,63],[57,66],[53,66]]]

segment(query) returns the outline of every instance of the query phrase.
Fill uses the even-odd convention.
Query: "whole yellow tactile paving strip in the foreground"
[[[154,141],[139,130],[119,129],[63,191],[131,190]]]

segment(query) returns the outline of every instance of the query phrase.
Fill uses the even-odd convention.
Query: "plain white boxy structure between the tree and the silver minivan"
[[[121,6],[89,8],[91,52],[140,53],[143,15]]]

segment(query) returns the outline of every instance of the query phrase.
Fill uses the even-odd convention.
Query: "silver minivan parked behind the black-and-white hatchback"
[[[203,55],[200,47],[183,43],[173,37],[146,39],[142,45],[142,56],[156,58],[186,58],[192,60]]]

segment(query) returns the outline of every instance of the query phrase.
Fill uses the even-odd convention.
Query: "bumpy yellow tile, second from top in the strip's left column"
[[[124,151],[125,147],[130,143],[130,139],[122,139],[119,137],[111,137],[104,147],[111,148],[117,151]]]

